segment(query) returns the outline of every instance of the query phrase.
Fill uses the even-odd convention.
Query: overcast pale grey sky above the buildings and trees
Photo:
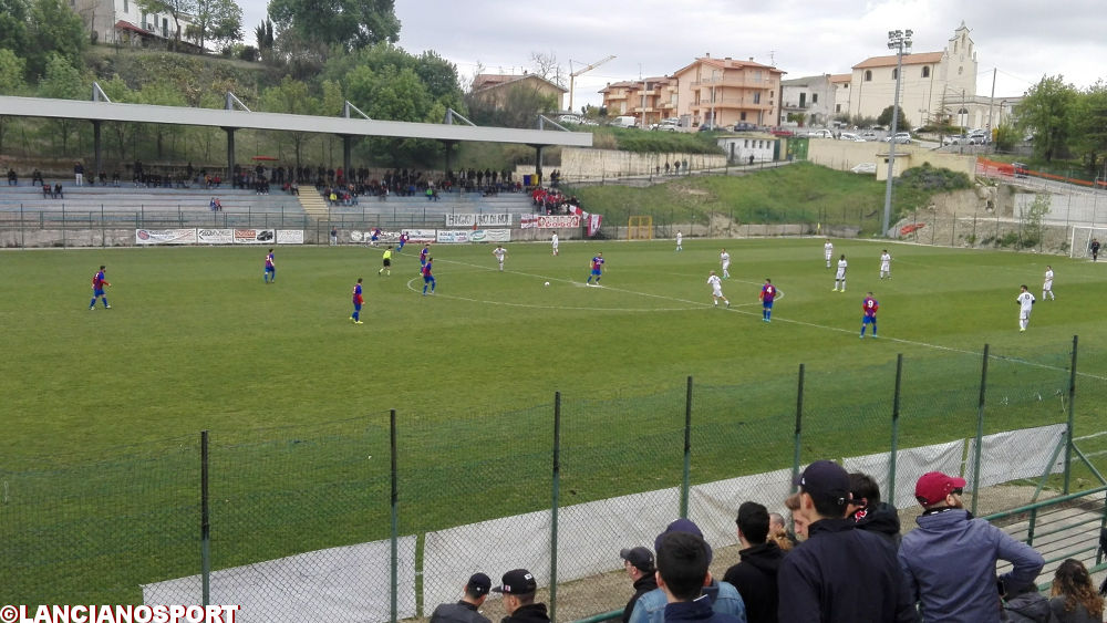
[[[266,15],[265,0],[241,0],[244,30]],[[1107,77],[1107,4],[1103,0],[396,0],[400,46],[434,50],[463,82],[477,63],[521,73],[532,52],[552,54],[578,76],[573,107],[598,105],[608,82],[665,75],[696,56],[753,59],[785,77],[848,73],[886,55],[888,31],[911,29],[914,52],[945,48],[964,21],[975,43],[976,93],[1021,95],[1043,75],[1077,87]],[[568,105],[568,101],[566,102]]]

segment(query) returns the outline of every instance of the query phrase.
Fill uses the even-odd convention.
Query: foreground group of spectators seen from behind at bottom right
[[[711,546],[687,519],[665,527],[652,551],[641,544],[620,550],[632,584],[623,623],[1103,622],[1104,599],[1087,568],[1065,560],[1053,599],[1039,593],[1042,554],[973,518],[962,503],[962,478],[940,471],[919,478],[922,515],[907,533],[869,475],[819,460],[794,485],[798,491],[785,500],[792,531],[761,503],[738,507],[739,562],[722,580],[708,569]],[[1001,561],[1004,573],[996,571]],[[549,621],[529,571],[490,583],[473,575],[465,598],[438,606],[431,623],[487,623],[479,608],[489,590],[505,596],[503,623]]]

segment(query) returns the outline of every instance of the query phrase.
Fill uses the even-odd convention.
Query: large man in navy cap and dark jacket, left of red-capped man
[[[849,475],[818,460],[796,480],[808,539],[784,557],[777,575],[780,621],[914,623],[914,603],[882,537],[846,518]]]

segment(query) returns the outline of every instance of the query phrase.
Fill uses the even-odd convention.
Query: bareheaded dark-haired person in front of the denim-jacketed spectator
[[[687,532],[665,534],[658,548],[658,585],[668,604],[663,617],[669,623],[745,623],[744,615],[713,610],[703,592],[710,581],[711,547],[703,537]],[[739,598],[741,599],[741,598]]]

